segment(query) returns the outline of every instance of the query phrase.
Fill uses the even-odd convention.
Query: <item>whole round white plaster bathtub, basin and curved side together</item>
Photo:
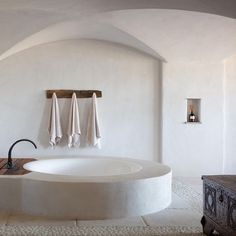
[[[128,158],[56,158],[30,162],[20,211],[69,219],[145,215],[171,203],[171,169]],[[15,207],[16,208],[16,207]]]

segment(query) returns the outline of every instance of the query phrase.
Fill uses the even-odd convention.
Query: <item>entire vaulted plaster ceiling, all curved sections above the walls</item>
[[[90,38],[167,61],[222,60],[236,53],[235,9],[235,0],[0,1],[0,59],[42,43]]]

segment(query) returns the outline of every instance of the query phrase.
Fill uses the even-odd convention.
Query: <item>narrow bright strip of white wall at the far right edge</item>
[[[236,174],[236,56],[225,60],[224,172]]]

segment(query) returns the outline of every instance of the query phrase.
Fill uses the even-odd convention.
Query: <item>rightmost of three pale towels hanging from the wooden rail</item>
[[[90,146],[101,148],[101,132],[99,128],[97,96],[93,93],[92,107],[89,113],[88,127],[87,127],[87,143]]]

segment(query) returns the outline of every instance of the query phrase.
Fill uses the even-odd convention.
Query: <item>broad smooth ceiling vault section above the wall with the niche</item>
[[[179,10],[128,10],[111,18],[167,61],[219,61],[236,54],[235,19]]]

